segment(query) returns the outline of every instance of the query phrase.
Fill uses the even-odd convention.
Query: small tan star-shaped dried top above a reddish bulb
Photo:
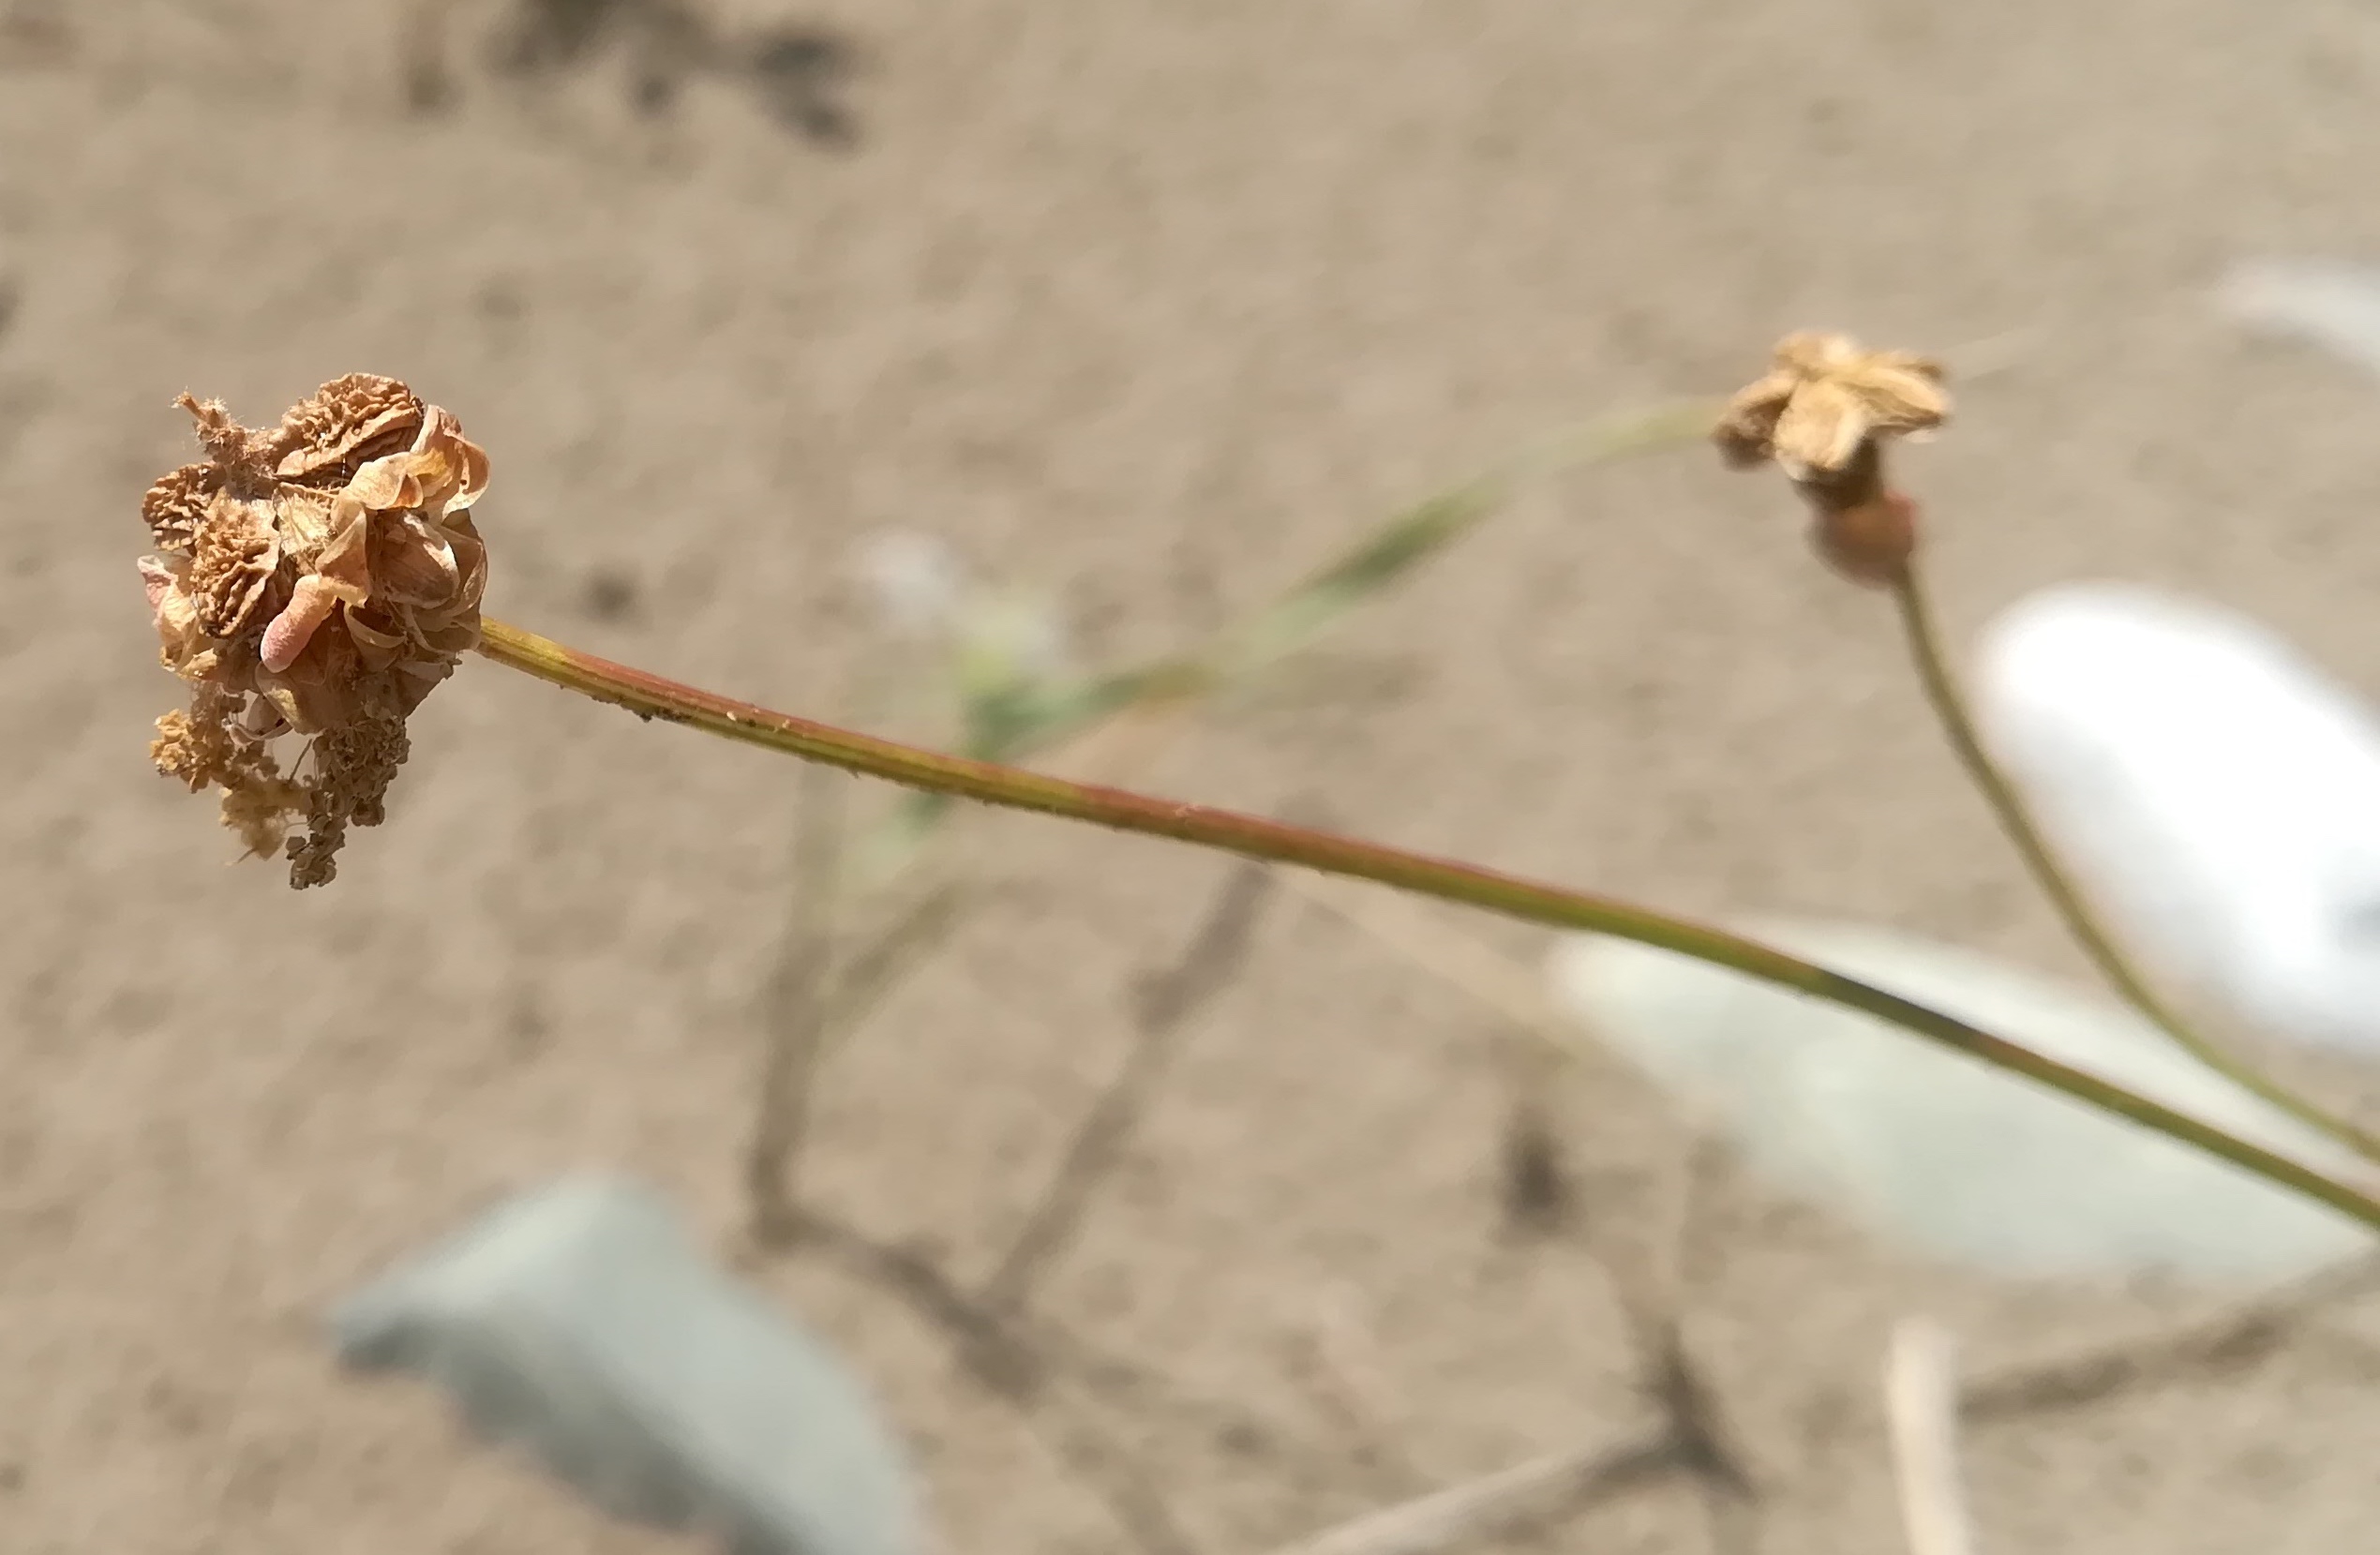
[[[1778,341],[1768,376],[1728,400],[1711,441],[1737,469],[1775,460],[1795,481],[1823,481],[1875,441],[1925,433],[1944,419],[1940,362],[1804,331]]]

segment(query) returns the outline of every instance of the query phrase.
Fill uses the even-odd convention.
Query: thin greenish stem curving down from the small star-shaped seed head
[[[2263,1100],[2320,1129],[2323,1134],[2354,1145],[2368,1160],[2380,1160],[2380,1141],[2347,1119],[2316,1107],[2287,1086],[2266,1079],[2254,1069],[2254,1064],[2230,1055],[2149,986],[2149,979],[2140,974],[2123,948],[2116,945],[2116,938],[2106,931],[2106,926],[2099,924],[2099,917],[2092,912],[2082,888],[2075,886],[2063,864],[2059,864],[2056,853],[2049,848],[2042,829],[2033,819],[2033,810],[2025,805],[2025,795],[1983,748],[1983,738],[1975,733],[1975,719],[1968,712],[1966,693],[1961,693],[1959,679],[1949,667],[1949,655],[1942,650],[1942,631],[1935,624],[1933,600],[1925,595],[1925,581],[1918,576],[1914,564],[1904,567],[1899,579],[1892,583],[1892,602],[1902,617],[1902,636],[1909,641],[1909,660],[1916,664],[1918,681],[1925,686],[1925,700],[1933,705],[1935,717],[1942,724],[1942,733],[1949,736],[1949,745],[1959,755],[1959,764],[1992,805],[1999,829],[2009,833],[2011,843],[2016,843],[2016,853],[2025,860],[2025,869],[2042,888],[2042,895],[2049,898],[2049,905],[2066,924],[2066,931],[2078,945],[2082,945],[2082,953],[2099,969],[2099,976],[2104,976],[2128,1005],[2140,1010],[2209,1069],[2223,1074],[2237,1086],[2244,1086],[2247,1091],[2254,1091]]]

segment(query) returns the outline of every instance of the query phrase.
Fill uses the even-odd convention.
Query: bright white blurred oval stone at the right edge
[[[2154,972],[2380,1053],[2380,724],[2351,691],[2244,617],[2066,583],[1985,629],[1975,717]]]

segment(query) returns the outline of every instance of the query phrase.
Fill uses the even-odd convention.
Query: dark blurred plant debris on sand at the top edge
[[[490,64],[505,76],[588,69],[624,55],[640,112],[666,112],[700,76],[747,88],[771,119],[819,145],[854,145],[843,93],[857,55],[840,33],[769,26],[731,33],[688,0],[516,0]]]

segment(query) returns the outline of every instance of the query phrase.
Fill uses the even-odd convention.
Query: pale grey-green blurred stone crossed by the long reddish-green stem
[[[2268,1150],[2366,1176],[2344,1145],[2113,1003],[1883,929],[1773,919],[1740,931]],[[2016,1279],[2251,1288],[2373,1248],[2370,1231],[2323,1205],[1856,1010],[1599,936],[1561,941],[1547,969],[1590,1036],[1726,1131],[1754,1172],[1918,1253]]]

